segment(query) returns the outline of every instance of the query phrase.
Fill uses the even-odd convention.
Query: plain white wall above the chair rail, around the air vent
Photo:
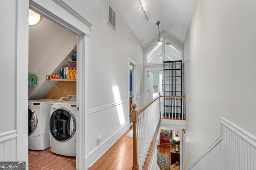
[[[115,103],[112,86],[118,86],[121,100],[128,99],[128,55],[138,61],[137,96],[143,86],[142,45],[114,6],[112,0],[64,0],[71,8],[92,23],[90,28],[89,109]],[[116,12],[116,31],[108,25],[107,2]],[[102,96],[104,96],[102,98]]]

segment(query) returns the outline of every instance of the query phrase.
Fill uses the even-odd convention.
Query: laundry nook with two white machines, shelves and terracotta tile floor
[[[76,43],[77,35],[42,16],[29,26],[31,170],[76,169]]]

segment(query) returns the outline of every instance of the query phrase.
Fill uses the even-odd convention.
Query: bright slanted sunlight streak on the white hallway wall
[[[117,104],[116,108],[117,108],[117,112],[118,112],[119,122],[120,122],[120,125],[123,125],[125,123],[125,120],[124,120],[124,109],[123,109],[123,106],[121,104],[119,88],[118,88],[118,86],[113,86],[112,90],[113,90],[115,102]]]

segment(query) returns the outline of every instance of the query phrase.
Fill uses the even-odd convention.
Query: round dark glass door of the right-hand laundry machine
[[[56,109],[50,117],[50,132],[60,142],[70,140],[76,132],[76,119],[68,109]]]

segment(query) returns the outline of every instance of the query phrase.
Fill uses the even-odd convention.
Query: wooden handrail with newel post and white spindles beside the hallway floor
[[[150,138],[152,131],[156,130],[155,128],[153,128],[155,127],[155,123],[156,123],[155,121],[156,120],[159,121],[161,119],[161,108],[160,108],[161,98],[169,98],[169,100],[170,98],[184,98],[184,100],[182,100],[184,101],[184,103],[182,102],[184,104],[184,108],[183,108],[184,110],[182,109],[182,119],[183,119],[183,112],[184,112],[184,117],[186,117],[186,94],[184,94],[184,96],[161,96],[159,93],[159,96],[157,96],[154,100],[152,100],[151,102],[149,102],[148,104],[146,104],[145,106],[141,107],[138,110],[136,110],[137,105],[133,103],[131,105],[132,111],[130,112],[132,129],[133,129],[132,170],[140,170],[140,168],[142,168],[143,162],[141,161],[143,161],[142,159],[144,159],[143,155],[145,154],[145,152],[147,152],[146,150],[148,147],[148,143],[151,143],[152,141],[152,139]],[[154,103],[157,100],[159,100],[159,104]],[[176,100],[177,99],[175,99],[175,101]],[[178,99],[178,100],[181,100],[181,99]],[[182,103],[181,105],[178,105],[178,107],[183,107]],[[177,105],[174,102],[174,105],[168,106],[168,107],[177,107]],[[156,109],[159,110],[159,113]],[[176,112],[174,113],[176,114]],[[178,116],[178,119],[179,118],[180,116]],[[151,123],[154,125],[151,125]],[[137,124],[138,124],[138,129],[137,129]],[[138,135],[138,138],[137,138],[137,135]]]

